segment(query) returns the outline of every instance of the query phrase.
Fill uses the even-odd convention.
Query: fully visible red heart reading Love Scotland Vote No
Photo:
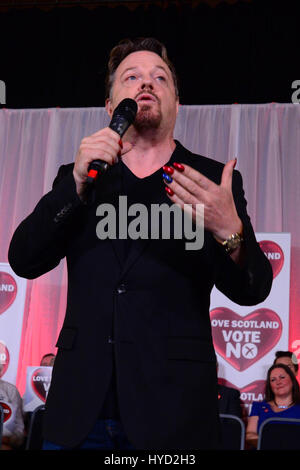
[[[210,318],[216,352],[239,371],[265,356],[282,333],[281,319],[267,308],[242,317],[219,307],[210,312]]]

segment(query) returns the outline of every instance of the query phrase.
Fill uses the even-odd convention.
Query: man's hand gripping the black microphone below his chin
[[[84,195],[88,168],[93,160],[102,160],[114,165],[118,156],[127,153],[131,148],[129,142],[123,146],[120,136],[109,127],[82,139],[73,170],[78,196],[82,198]]]

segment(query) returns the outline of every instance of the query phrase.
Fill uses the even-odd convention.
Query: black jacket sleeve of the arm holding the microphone
[[[17,227],[8,251],[14,272],[34,279],[55,268],[66,254],[70,221],[84,204],[76,193],[73,165],[59,168],[52,190]]]

